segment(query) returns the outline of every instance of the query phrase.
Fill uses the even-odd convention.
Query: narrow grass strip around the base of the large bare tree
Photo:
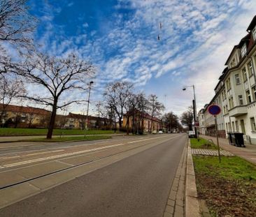
[[[50,140],[46,138],[20,140],[20,142],[68,142],[68,141],[87,141],[87,140],[106,140],[111,139],[109,135],[87,135],[73,137],[54,137]]]

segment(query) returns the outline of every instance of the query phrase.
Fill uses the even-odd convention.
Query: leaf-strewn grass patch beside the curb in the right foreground
[[[206,200],[211,216],[256,214],[256,166],[242,158],[193,156],[200,200]]]

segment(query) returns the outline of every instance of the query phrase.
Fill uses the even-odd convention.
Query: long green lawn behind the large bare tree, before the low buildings
[[[0,136],[46,135],[48,129],[0,128]],[[55,129],[53,135],[84,135],[85,130]],[[86,130],[88,135],[113,134],[114,130]],[[118,131],[116,133],[119,133]]]

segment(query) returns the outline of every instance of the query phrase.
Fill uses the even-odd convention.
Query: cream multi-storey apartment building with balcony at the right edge
[[[222,107],[218,128],[244,134],[247,142],[256,144],[256,16],[250,22],[248,33],[235,45],[220,75],[211,103]],[[211,126],[211,117],[204,110],[205,126]],[[210,130],[210,129],[209,129]],[[206,134],[209,131],[206,130]]]

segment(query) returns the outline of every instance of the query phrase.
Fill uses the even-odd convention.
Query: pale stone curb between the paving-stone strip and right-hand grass
[[[197,198],[196,177],[194,174],[194,164],[190,148],[190,140],[187,147],[187,170],[185,182],[185,216],[200,217],[201,209],[200,202]]]

